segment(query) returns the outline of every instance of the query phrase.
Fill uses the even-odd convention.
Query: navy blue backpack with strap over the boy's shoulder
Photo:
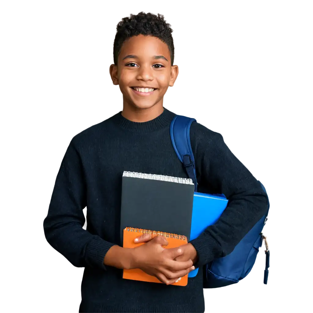
[[[193,121],[195,120],[185,116],[175,116],[170,126],[170,135],[174,150],[184,165],[188,177],[192,179],[195,185],[195,192],[197,192],[195,160],[189,134]],[[261,182],[261,185],[266,192],[263,182]],[[267,238],[262,230],[268,213],[269,207],[266,215],[254,225],[230,254],[223,258],[215,259],[210,264],[206,264],[204,282],[206,287],[225,287],[238,283],[247,275],[257,260],[259,253],[264,253],[262,285],[267,283],[269,247]]]

